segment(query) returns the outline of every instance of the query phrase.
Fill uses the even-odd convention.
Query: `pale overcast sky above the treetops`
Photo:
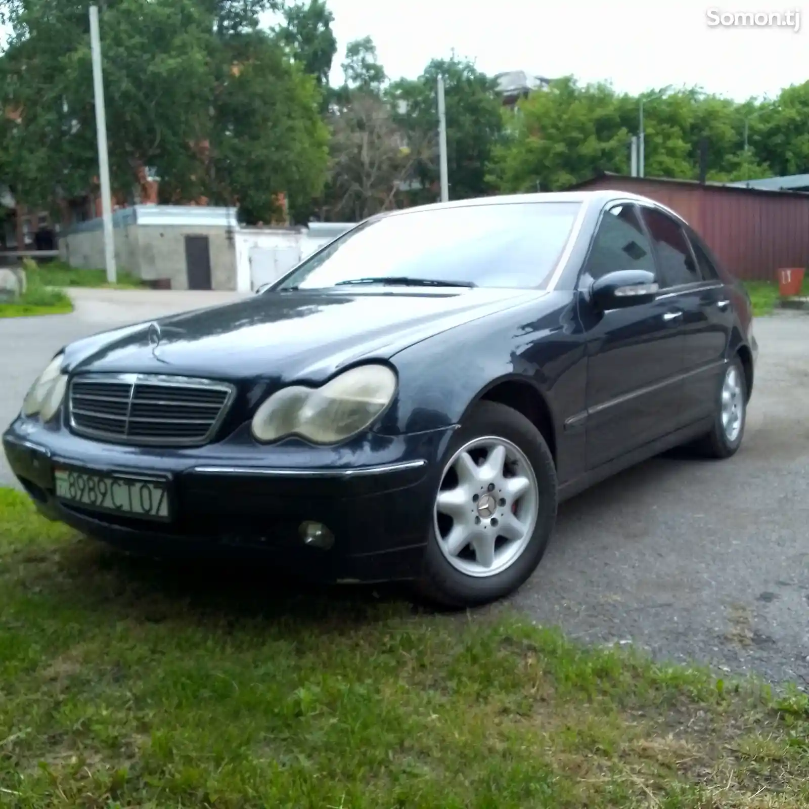
[[[582,81],[609,79],[637,93],[669,84],[699,85],[744,100],[776,95],[809,79],[809,3],[798,32],[788,28],[711,28],[709,9],[800,11],[758,0],[712,5],[700,0],[328,0],[339,52],[370,35],[388,75],[414,77],[454,48],[486,73],[527,70]]]

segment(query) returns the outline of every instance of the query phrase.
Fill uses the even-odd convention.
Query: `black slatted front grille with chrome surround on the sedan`
[[[70,382],[70,427],[112,443],[198,447],[214,437],[234,392],[184,376],[78,375]]]

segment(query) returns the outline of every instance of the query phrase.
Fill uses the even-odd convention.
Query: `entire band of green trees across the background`
[[[0,179],[45,207],[97,184],[91,0],[0,0]],[[238,204],[269,221],[286,192],[297,221],[362,218],[438,197],[447,101],[451,198],[566,188],[629,173],[641,104],[646,176],[709,180],[809,172],[809,82],[737,103],[697,88],[633,96],[561,78],[503,108],[493,78],[453,55],[389,83],[375,44],[348,44],[344,81],[328,0],[102,0],[112,186],[148,168],[164,201]],[[282,13],[273,31],[265,11]],[[746,137],[745,137],[746,134]]]

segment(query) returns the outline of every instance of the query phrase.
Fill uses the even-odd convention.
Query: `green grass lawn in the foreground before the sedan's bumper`
[[[0,489],[0,806],[797,809],[807,731],[797,693],[129,560]]]

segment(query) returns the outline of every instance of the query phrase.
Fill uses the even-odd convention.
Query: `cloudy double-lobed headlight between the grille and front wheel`
[[[384,365],[362,365],[322,388],[294,385],[274,393],[256,411],[256,441],[299,435],[316,444],[336,444],[361,433],[391,403],[396,374]]]

